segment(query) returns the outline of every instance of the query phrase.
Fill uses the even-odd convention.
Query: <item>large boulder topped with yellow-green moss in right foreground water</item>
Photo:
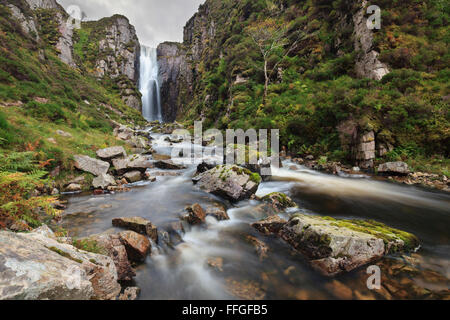
[[[336,220],[304,214],[291,218],[279,235],[328,276],[419,246],[414,235],[376,221]]]

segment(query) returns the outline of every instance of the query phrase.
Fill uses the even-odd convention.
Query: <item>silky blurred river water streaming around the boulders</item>
[[[155,150],[170,154],[171,146],[164,142],[164,136],[154,137]],[[448,294],[448,194],[375,181],[363,175],[337,177],[292,166],[286,162],[284,167],[289,169],[274,169],[272,180],[262,183],[257,195],[284,192],[297,202],[296,210],[303,213],[374,219],[415,233],[422,242],[420,251],[412,255],[417,261],[416,269],[397,276],[392,270],[409,270],[405,269],[405,261],[411,257],[385,258],[379,263],[383,283],[391,291],[399,290],[394,298],[417,298],[423,290]],[[195,166],[191,166],[180,176],[159,176],[157,182],[137,184],[128,193],[71,197],[64,227],[72,236],[82,237],[111,229],[112,218],[141,216],[164,228],[170,222],[179,221],[179,215],[188,205],[221,203],[228,208],[230,220],[218,222],[208,217],[204,226],[186,226],[182,243],[174,248],[154,248],[152,256],[137,267],[135,282],[142,289],[141,299],[389,297],[389,293],[386,296],[367,289],[364,268],[338,276],[337,281],[319,275],[286,243],[252,229],[251,223],[265,217],[258,202],[231,205],[204,193],[191,181],[194,172]],[[283,216],[287,218],[290,213]],[[263,261],[248,241],[249,235],[269,247],[268,257]],[[216,267],[212,268],[211,264]]]

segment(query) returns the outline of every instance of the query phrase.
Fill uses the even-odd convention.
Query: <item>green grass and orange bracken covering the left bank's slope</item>
[[[55,180],[73,176],[73,155],[120,144],[111,120],[143,123],[117,93],[59,60],[56,12],[37,14],[38,42],[0,2],[0,228],[15,221],[37,225],[36,207],[53,215],[54,199],[35,191],[48,194]]]

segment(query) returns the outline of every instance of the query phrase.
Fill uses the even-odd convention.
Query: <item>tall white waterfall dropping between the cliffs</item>
[[[142,94],[142,115],[148,121],[162,122],[158,72],[156,48],[141,45],[139,91]]]

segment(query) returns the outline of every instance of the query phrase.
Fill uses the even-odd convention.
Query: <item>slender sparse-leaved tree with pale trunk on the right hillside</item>
[[[278,65],[297,46],[299,38],[289,47],[288,26],[285,23],[278,23],[275,19],[269,18],[247,28],[247,34],[252,38],[263,59],[264,71],[264,98],[266,103],[267,91],[270,77],[277,70]],[[273,61],[276,61],[273,63]],[[270,63],[272,62],[272,63]]]

